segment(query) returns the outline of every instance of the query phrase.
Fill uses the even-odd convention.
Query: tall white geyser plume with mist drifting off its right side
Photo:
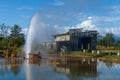
[[[56,33],[54,27],[42,20],[42,16],[39,13],[35,14],[31,19],[24,48],[27,58],[29,58],[29,53],[32,52],[33,45],[52,41],[52,35]]]

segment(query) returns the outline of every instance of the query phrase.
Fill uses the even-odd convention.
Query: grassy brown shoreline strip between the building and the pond
[[[60,54],[60,53],[45,53],[42,54],[42,56],[47,56],[47,57],[57,57],[57,58],[64,58],[67,57],[69,59],[79,59],[79,58],[95,58],[95,59],[100,59],[100,60],[105,60],[105,61],[111,61],[111,62],[119,62],[120,63],[120,56],[113,56],[113,55],[105,55],[105,56],[100,56],[100,54],[92,54],[92,53],[67,53],[67,54]],[[14,58],[4,58],[0,57],[1,59],[15,59]],[[18,58],[19,59],[19,58]]]

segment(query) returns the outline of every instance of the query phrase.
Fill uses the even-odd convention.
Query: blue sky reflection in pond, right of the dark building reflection
[[[100,72],[99,80],[120,80],[120,63],[100,61],[97,67]]]

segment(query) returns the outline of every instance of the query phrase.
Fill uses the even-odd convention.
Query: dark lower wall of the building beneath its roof
[[[74,37],[70,41],[57,41],[57,51],[61,50],[61,47],[67,47],[68,51],[79,51],[79,50],[96,50],[96,38],[95,37]]]

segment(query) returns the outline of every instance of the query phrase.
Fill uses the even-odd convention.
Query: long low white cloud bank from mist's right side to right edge
[[[94,20],[93,17],[88,17],[88,19],[82,21],[81,23],[76,24],[75,26],[64,26],[64,27],[59,27],[57,25],[56,30],[59,30],[59,32],[67,32],[69,29],[74,29],[74,28],[83,28],[84,30],[97,30],[100,35],[105,35],[106,33],[113,33],[114,35],[120,35],[120,28],[118,27],[105,27],[101,28],[98,27]]]

